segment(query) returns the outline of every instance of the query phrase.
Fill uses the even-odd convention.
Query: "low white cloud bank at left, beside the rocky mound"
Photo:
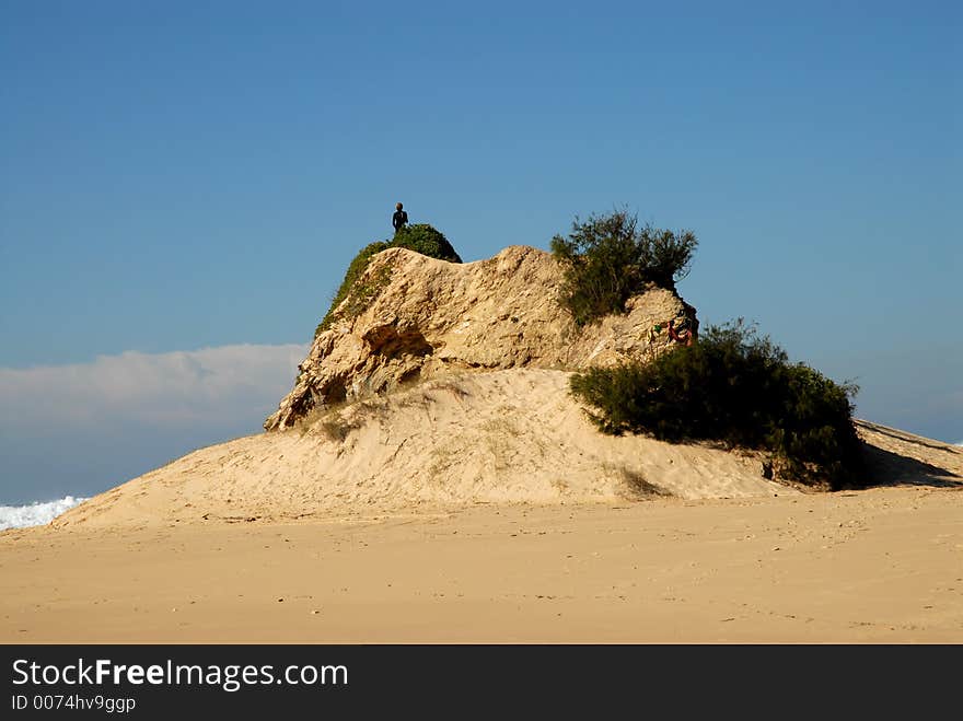
[[[100,356],[90,363],[0,368],[0,427],[183,426],[265,415],[293,384],[306,347],[222,346]]]

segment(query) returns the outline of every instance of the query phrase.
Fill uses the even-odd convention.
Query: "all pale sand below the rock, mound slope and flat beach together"
[[[0,642],[963,642],[963,449],[860,421],[885,485],[804,492],[550,371],[410,393],[0,533]]]

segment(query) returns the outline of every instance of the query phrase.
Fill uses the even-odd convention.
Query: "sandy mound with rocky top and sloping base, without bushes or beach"
[[[376,519],[475,503],[801,492],[768,478],[763,452],[599,432],[569,393],[572,372],[665,352],[675,342],[665,324],[685,316],[697,327],[695,309],[652,287],[625,314],[578,328],[557,301],[560,282],[552,256],[531,247],[465,265],[384,251],[265,423],[295,431],[197,450],[54,525]],[[405,383],[414,379],[424,382]],[[870,482],[960,485],[959,449],[858,428]]]

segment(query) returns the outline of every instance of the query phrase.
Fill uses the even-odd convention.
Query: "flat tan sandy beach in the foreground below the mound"
[[[961,642],[963,492],[10,531],[0,640]]]

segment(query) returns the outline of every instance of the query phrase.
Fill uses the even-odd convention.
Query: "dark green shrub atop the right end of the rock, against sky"
[[[692,231],[639,226],[625,210],[572,222],[568,239],[552,239],[565,265],[560,300],[578,325],[625,312],[625,302],[654,283],[670,290],[688,275],[698,241]]]

